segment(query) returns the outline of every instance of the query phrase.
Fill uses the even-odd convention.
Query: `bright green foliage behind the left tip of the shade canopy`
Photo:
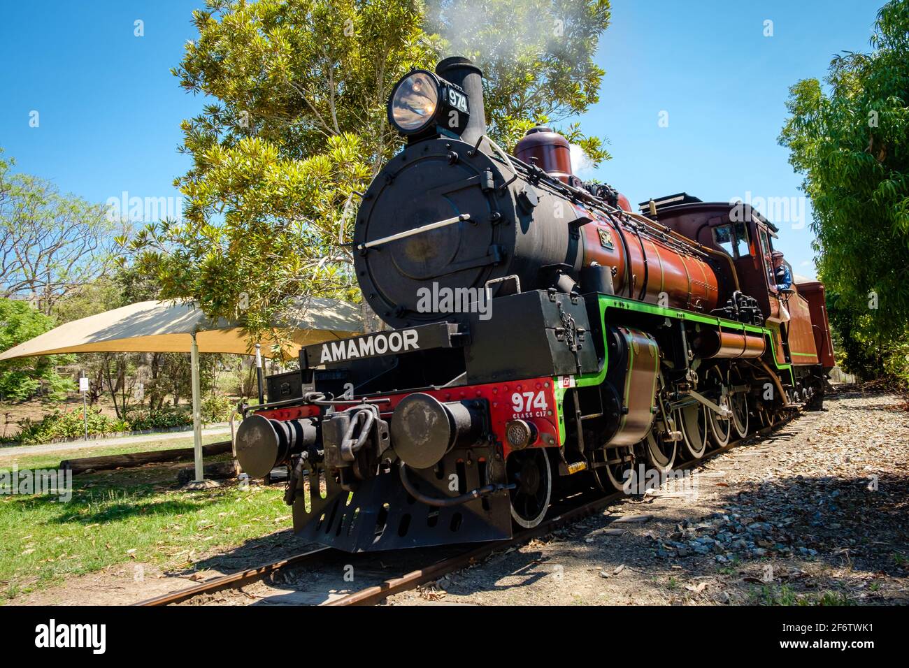
[[[0,299],[0,351],[12,348],[54,326],[54,321],[31,305],[13,299]],[[0,362],[0,401],[21,402],[41,389],[48,399],[59,400],[75,384],[56,373],[55,367],[68,358],[25,357]]]

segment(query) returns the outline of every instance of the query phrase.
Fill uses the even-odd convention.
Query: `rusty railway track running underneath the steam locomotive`
[[[675,468],[676,470],[694,468],[696,466],[704,464],[704,462],[707,462],[720,454],[724,454],[732,450],[735,447],[739,447],[744,444],[752,444],[756,440],[762,439],[768,434],[777,432],[787,425],[798,424],[798,422],[799,420],[796,417],[790,418],[785,422],[774,424],[773,426],[764,427],[754,434],[749,434],[744,439],[734,441],[722,448],[714,449],[699,460],[685,462],[684,464],[680,464]],[[802,429],[804,429],[804,426]],[[797,435],[802,431],[802,429],[796,428],[793,434],[788,434],[786,437],[784,437],[783,440],[790,437],[791,435]],[[375,603],[381,602],[392,594],[405,592],[407,590],[414,589],[420,584],[435,581],[447,573],[453,573],[454,571],[461,570],[462,568],[470,566],[473,563],[478,563],[493,553],[508,549],[509,547],[513,547],[515,545],[526,543],[527,541],[530,541],[536,537],[545,535],[547,533],[552,533],[564,526],[576,523],[585,517],[589,517],[594,513],[602,511],[606,506],[615,503],[616,501],[620,501],[625,496],[626,495],[622,492],[615,492],[614,494],[599,496],[589,502],[581,503],[580,505],[576,505],[574,507],[566,506],[562,512],[557,513],[554,517],[545,520],[543,523],[540,523],[533,529],[527,529],[515,533],[514,537],[505,541],[482,543],[478,546],[470,546],[467,548],[462,547],[461,549],[456,549],[454,554],[451,553],[452,548],[450,546],[447,548],[447,550],[444,548],[433,548],[434,550],[443,551],[446,553],[444,556],[436,559],[430,565],[419,565],[415,568],[407,570],[404,574],[398,577],[388,578],[385,580],[381,580],[381,578],[376,580],[375,572],[373,572],[373,583],[365,586],[358,591],[344,594],[329,593],[328,595],[325,593],[319,593],[312,596],[309,600],[307,600],[304,595],[297,597],[293,603],[319,603],[327,605],[374,605]],[[617,517],[614,520],[614,522],[623,521],[627,522],[629,521],[629,518]],[[405,552],[413,553],[414,551]],[[340,565],[344,564],[345,561],[350,562],[360,556],[373,558],[374,560],[378,560],[379,563],[381,563],[383,554],[384,553],[365,553],[364,555],[355,555],[351,553],[344,553],[330,547],[321,547],[307,551],[305,553],[295,554],[294,556],[273,563],[265,563],[261,566],[247,569],[239,573],[231,573],[229,575],[215,577],[211,580],[195,584],[191,587],[186,587],[185,589],[180,589],[175,592],[155,596],[155,598],[136,603],[136,605],[156,606],[186,603],[192,601],[196,597],[205,595],[210,596],[211,594],[223,592],[225,590],[240,589],[249,584],[260,582],[269,577],[274,577],[277,573],[285,573],[287,571],[299,569],[302,567],[317,569],[321,566],[327,566],[330,564]],[[367,573],[370,573],[368,566],[365,570]],[[369,578],[367,577],[367,579]]]

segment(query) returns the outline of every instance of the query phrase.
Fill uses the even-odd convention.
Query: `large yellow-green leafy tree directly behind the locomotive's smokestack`
[[[484,3],[496,20],[470,54],[487,72],[489,132],[504,145],[536,121],[583,112],[603,75],[592,55],[608,23],[605,0],[524,5]],[[574,5],[583,9],[569,12]],[[534,10],[545,35],[558,15],[562,35],[515,42],[513,55],[496,50],[514,29],[507,15]],[[411,67],[433,68],[462,48],[456,30],[447,42],[435,32],[452,16],[450,2],[427,11],[421,0],[209,0],[196,11],[199,38],[175,75],[216,102],[183,124],[194,160],[175,182],[188,203],[184,222],[150,225],[129,245],[163,296],[191,298],[256,334],[298,297],[356,298],[342,245],[355,192],[402,145],[385,101]],[[569,133],[594,159],[607,157],[599,140]]]

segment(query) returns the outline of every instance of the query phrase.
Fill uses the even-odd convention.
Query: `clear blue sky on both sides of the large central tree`
[[[633,204],[681,191],[713,201],[750,194],[758,204],[776,198],[784,213],[782,203],[801,196],[801,179],[776,144],[788,87],[823,76],[835,53],[867,50],[883,2],[613,0],[597,55],[606,70],[601,102],[582,121],[588,133],[608,137],[614,159],[582,175],[613,184]],[[5,3],[6,155],[20,171],[91,201],[123,191],[175,196],[172,182],[190,164],[176,152],[179,124],[202,100],[185,94],[170,68],[195,37],[191,12],[201,5]],[[765,21],[773,36],[764,36]],[[29,125],[33,111],[37,127]],[[800,205],[796,199],[779,222],[777,246],[797,273],[814,275],[810,206],[803,217]]]

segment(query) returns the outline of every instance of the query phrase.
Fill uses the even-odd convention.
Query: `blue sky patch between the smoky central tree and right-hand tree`
[[[635,205],[681,191],[722,202],[750,193],[774,204],[758,207],[771,220],[774,210],[786,214],[784,202],[802,195],[802,178],[776,143],[789,86],[823,77],[836,53],[867,51],[883,4],[614,0],[596,58],[606,70],[601,101],[582,119],[611,142],[613,160],[594,174]],[[765,21],[773,36],[764,36]],[[774,245],[797,274],[814,276],[810,204],[788,208],[785,221],[775,216]]]

